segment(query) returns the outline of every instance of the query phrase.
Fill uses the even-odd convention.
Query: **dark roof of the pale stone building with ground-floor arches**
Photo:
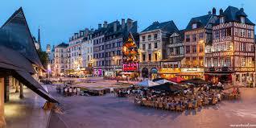
[[[143,30],[142,32],[145,31],[153,31],[156,29],[162,29],[162,30],[167,30],[167,31],[179,31],[178,28],[175,26],[175,23],[171,20],[171,21],[167,21],[164,23],[158,23],[155,22],[153,24],[151,24],[151,26],[147,27],[145,30]]]

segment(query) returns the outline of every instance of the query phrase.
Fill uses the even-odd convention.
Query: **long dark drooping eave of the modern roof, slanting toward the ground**
[[[17,78],[19,81],[22,81],[23,84],[27,86],[27,88],[33,90],[47,101],[58,102],[49,93],[47,93],[45,89],[43,89],[38,81],[35,81],[30,73],[19,70],[15,70],[15,72],[17,72],[17,76],[15,76],[15,78]]]

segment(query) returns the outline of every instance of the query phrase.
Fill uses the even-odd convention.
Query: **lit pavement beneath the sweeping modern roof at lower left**
[[[10,89],[10,101],[5,103],[7,128],[46,128],[50,110],[42,109],[45,100],[31,89],[24,88],[24,98]]]

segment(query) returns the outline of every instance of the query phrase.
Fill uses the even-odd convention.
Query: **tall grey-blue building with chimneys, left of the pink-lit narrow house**
[[[137,33],[137,22],[132,19],[105,22],[99,27],[93,36],[94,75],[117,76],[122,72],[122,44],[129,33]]]

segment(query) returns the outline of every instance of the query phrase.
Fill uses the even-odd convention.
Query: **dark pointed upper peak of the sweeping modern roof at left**
[[[16,10],[14,14],[1,27],[2,40],[1,45],[10,47],[15,51],[26,56],[33,64],[43,67],[36,52],[34,39],[27,25],[27,20],[22,7]],[[0,37],[1,38],[1,37]]]

